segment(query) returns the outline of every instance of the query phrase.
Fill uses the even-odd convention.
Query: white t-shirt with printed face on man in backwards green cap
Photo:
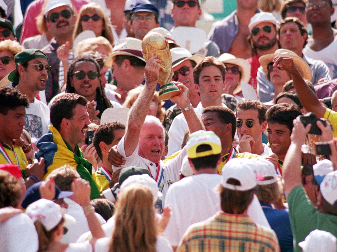
[[[39,139],[48,131],[49,118],[49,107],[42,101],[34,98],[34,102],[30,102],[29,107],[26,108],[25,130],[28,131],[31,137]]]

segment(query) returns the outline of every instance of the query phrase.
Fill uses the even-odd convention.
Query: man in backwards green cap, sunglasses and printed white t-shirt
[[[26,49],[15,57],[16,69],[9,75],[8,80],[27,95],[29,107],[26,108],[25,130],[36,139],[46,134],[49,125],[49,107],[35,98],[39,91],[43,91],[48,80],[48,73],[52,67],[48,64],[48,57],[37,49]]]

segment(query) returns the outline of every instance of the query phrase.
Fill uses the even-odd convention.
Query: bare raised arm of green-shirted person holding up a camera
[[[301,147],[304,144],[307,133],[311,124],[304,128],[301,120],[297,117],[294,120],[294,128],[290,136],[292,143],[289,146],[283,162],[282,177],[284,180],[284,192],[288,197],[289,193],[296,186],[302,186],[301,182]]]

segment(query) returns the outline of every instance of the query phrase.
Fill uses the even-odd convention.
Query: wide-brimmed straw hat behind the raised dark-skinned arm
[[[275,53],[263,55],[258,59],[258,61],[260,62],[260,65],[263,67],[263,70],[265,71],[266,74],[268,73],[267,65],[270,62],[273,62],[273,59],[277,55],[291,57],[294,61],[296,68],[299,70],[300,74],[302,75],[302,77],[306,80],[309,80],[309,81],[311,80],[312,75],[311,75],[311,70],[310,70],[309,65],[304,61],[304,59],[299,57],[296,53],[294,53],[293,51],[287,50],[287,49],[277,49]]]

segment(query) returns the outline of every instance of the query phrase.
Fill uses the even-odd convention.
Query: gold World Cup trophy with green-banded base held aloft
[[[160,59],[158,83],[160,84],[159,99],[168,100],[179,95],[181,91],[171,82],[173,76],[172,56],[168,41],[157,32],[149,32],[142,41],[142,53],[146,62],[157,55]]]

